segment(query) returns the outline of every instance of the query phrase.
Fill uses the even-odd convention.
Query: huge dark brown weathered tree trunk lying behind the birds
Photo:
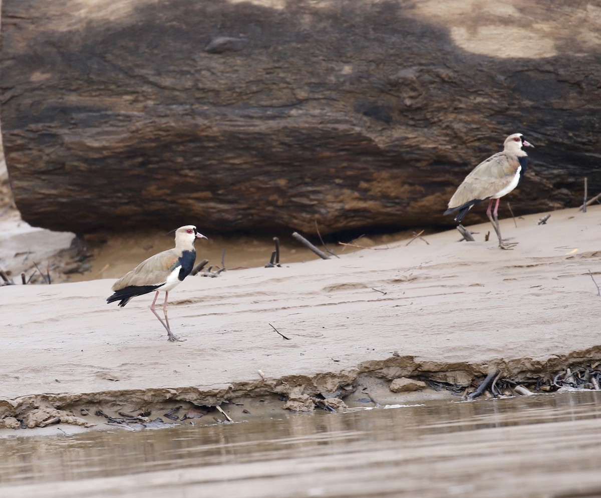
[[[601,191],[593,2],[2,9],[5,152],[17,206],[37,226],[451,224],[442,212],[456,186],[514,132],[537,147],[508,197],[516,215],[577,205],[584,176]]]

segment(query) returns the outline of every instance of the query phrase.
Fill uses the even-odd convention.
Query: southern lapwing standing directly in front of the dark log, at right
[[[498,152],[482,161],[465,177],[463,183],[459,185],[459,188],[451,197],[449,208],[444,212],[445,215],[456,212],[455,221],[460,222],[474,204],[489,199],[486,214],[495,229],[499,238],[499,247],[502,249],[510,249],[510,246],[515,244],[506,244],[501,238],[501,229],[497,217],[499,200],[503,195],[516,188],[517,183],[526,171],[528,155],[522,150],[522,147],[534,146],[523,140],[521,133],[514,133],[505,138],[503,152]],[[492,201],[495,199],[493,218],[490,210]]]

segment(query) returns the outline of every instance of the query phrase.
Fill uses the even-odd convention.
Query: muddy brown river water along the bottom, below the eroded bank
[[[601,495],[601,393],[0,442],[0,496]]]

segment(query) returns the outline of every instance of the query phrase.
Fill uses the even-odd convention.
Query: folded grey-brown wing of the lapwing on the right
[[[449,208],[463,206],[472,200],[484,200],[500,192],[519,168],[517,157],[498,152],[481,162],[465,177],[449,201]]]

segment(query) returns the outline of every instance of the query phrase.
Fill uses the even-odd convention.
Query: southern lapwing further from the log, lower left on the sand
[[[194,225],[186,225],[175,230],[175,247],[154,254],[148,259],[142,261],[136,268],[121,277],[112,286],[115,291],[111,297],[107,298],[107,303],[119,301],[119,306],[123,307],[132,297],[148,294],[156,290],[154,300],[150,305],[150,311],[165,327],[167,339],[171,342],[177,339],[169,328],[169,319],[167,318],[167,297],[169,290],[173,289],[178,283],[186,278],[194,267],[196,251],[194,242],[196,239],[206,239]],[[163,314],[165,321],[154,310],[156,298],[159,292],[165,292],[165,303],[163,304]]]

